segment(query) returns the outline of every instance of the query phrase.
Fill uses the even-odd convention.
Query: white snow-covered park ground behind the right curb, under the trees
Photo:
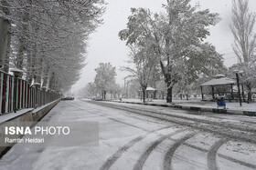
[[[136,102],[143,103],[140,99],[122,99],[123,102]],[[118,100],[116,100],[118,101]],[[151,102],[146,99],[147,103],[153,104],[166,104],[166,100],[153,99]],[[208,108],[217,108],[216,102],[201,101],[200,99],[189,99],[189,100],[173,100],[173,105],[184,105],[184,106],[196,106],[196,107],[208,107]],[[254,111],[256,112],[256,103],[247,104],[242,102],[240,106],[239,102],[226,102],[227,109],[230,110],[241,110],[241,111]]]

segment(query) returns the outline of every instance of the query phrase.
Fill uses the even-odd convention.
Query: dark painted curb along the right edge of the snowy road
[[[212,112],[215,114],[229,114],[229,115],[248,115],[256,116],[256,112],[252,111],[242,111],[242,110],[229,110],[229,109],[219,109],[212,107],[197,107],[197,106],[187,106],[187,105],[167,105],[167,104],[151,104],[151,103],[137,103],[137,102],[125,102],[125,101],[108,101],[115,103],[125,103],[125,104],[135,104],[135,105],[153,105],[153,106],[162,106],[162,107],[174,107],[177,109],[191,110],[196,112]]]

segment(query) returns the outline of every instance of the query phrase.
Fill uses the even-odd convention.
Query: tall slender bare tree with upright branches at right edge
[[[232,24],[234,36],[233,50],[239,58],[234,68],[243,71],[241,83],[248,90],[248,103],[251,102],[251,89],[255,87],[256,34],[253,32],[256,15],[249,11],[249,0],[233,0]]]

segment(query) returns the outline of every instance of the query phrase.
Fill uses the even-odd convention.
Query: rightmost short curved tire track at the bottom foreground
[[[229,139],[223,138],[223,139],[220,139],[217,143],[215,143],[214,145],[212,145],[210,147],[210,149],[208,151],[208,169],[218,170],[218,165],[217,165],[217,160],[216,160],[217,152],[219,150],[219,147],[228,141],[229,141]]]

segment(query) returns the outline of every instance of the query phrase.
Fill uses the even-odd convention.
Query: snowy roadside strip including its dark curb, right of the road
[[[232,115],[253,115],[256,116],[256,103],[229,103],[226,102],[226,109],[223,107],[217,107],[216,102],[209,102],[209,101],[201,101],[199,99],[190,99],[190,100],[173,100],[172,104],[167,104],[165,100],[154,99],[151,102],[146,100],[146,103],[140,99],[123,99],[120,100],[113,100],[112,102],[122,102],[122,103],[130,103],[130,104],[141,104],[141,105],[157,105],[157,106],[169,106],[169,107],[176,107],[180,109],[187,109],[187,110],[195,110],[195,111],[203,111],[203,112],[213,112],[219,114],[232,114]]]

